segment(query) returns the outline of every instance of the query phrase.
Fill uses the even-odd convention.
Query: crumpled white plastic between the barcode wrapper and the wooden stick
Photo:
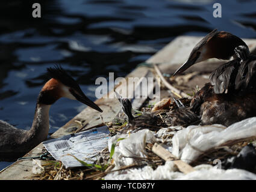
[[[146,157],[145,145],[146,143],[154,143],[155,136],[152,131],[145,129],[133,134],[121,134],[111,137],[108,140],[108,150],[111,151],[113,143],[117,142],[119,138],[126,138],[120,140],[119,146],[114,148],[114,169],[119,169],[122,166],[128,166],[136,163],[136,157]]]

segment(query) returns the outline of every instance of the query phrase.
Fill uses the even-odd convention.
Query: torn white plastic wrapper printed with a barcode
[[[109,134],[108,127],[103,126],[47,140],[43,142],[43,145],[55,160],[64,164],[66,169],[81,167],[83,164],[67,154],[71,154],[88,164],[93,163],[96,160],[95,156],[108,146]]]

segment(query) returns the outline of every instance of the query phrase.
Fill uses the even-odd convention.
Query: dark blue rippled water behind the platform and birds
[[[41,0],[0,2],[0,119],[28,130],[46,68],[61,64],[95,100],[95,79],[130,73],[178,35],[205,35],[217,28],[256,38],[256,1]],[[50,111],[50,133],[83,104],[64,98]],[[0,170],[7,166],[0,163]]]

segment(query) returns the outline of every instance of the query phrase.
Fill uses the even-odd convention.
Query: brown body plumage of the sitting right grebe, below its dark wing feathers
[[[256,116],[256,93],[237,95],[233,92],[215,94],[211,83],[207,83],[193,97],[190,110],[201,116],[201,124],[229,126],[237,121]]]

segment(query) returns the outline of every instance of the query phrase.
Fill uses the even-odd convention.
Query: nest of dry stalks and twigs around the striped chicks
[[[191,79],[192,76],[194,75],[195,74],[187,75],[183,77],[183,80],[185,79],[185,82],[187,82],[187,79]],[[170,79],[170,81],[174,81],[174,80]],[[175,86],[177,87],[179,86],[179,88],[184,87],[184,91],[189,90],[189,88],[187,88],[185,85],[182,85],[182,83],[179,83],[179,82],[176,82]],[[194,91],[196,90],[193,89],[193,92]],[[191,100],[189,98],[180,98],[180,100],[185,107],[190,106]],[[129,132],[133,133],[138,129],[142,129],[142,128],[148,128],[149,130],[157,133],[157,131],[160,130],[161,128],[169,128],[170,126],[173,126],[173,116],[170,114],[172,114],[173,112],[175,113],[177,110],[179,110],[178,106],[173,102],[169,104],[167,109],[158,109],[152,112],[151,110],[153,106],[149,105],[149,101],[150,100],[146,100],[146,102],[141,107],[141,110],[133,110],[132,112],[135,117],[142,116],[143,114],[146,114],[146,113],[157,116],[157,120],[155,121],[154,125],[153,124],[145,125],[143,124],[143,122],[145,121],[141,121],[140,124],[137,126],[130,126],[129,122],[127,122],[127,119],[125,118],[125,115],[122,113],[119,116],[117,116],[115,119],[113,119],[113,121],[106,123],[111,133],[111,136],[114,136],[117,133],[129,133]],[[198,122],[196,121],[187,122],[186,124],[184,124],[184,126],[193,125],[193,124],[196,125],[198,124]],[[183,124],[180,123],[180,125],[183,125]],[[168,136],[161,138],[161,142],[158,141],[158,143],[170,145],[173,135],[179,130],[173,129],[172,131],[173,131],[173,134],[169,134]],[[256,143],[256,140],[244,140],[244,141],[237,141],[236,143],[226,143],[225,146],[220,146],[219,148],[214,148],[214,149],[211,149],[210,151],[205,152],[199,158],[197,158],[196,161],[193,161],[192,163],[190,163],[190,165],[191,166],[198,166],[199,164],[214,165],[214,160],[216,159],[225,161],[227,158],[234,157],[237,154],[239,154],[242,148],[248,145],[249,143]],[[60,161],[45,160],[42,163],[42,167],[43,167],[42,173],[35,175],[34,179],[97,180],[97,179],[104,178],[104,176],[107,175],[108,173],[119,171],[119,170],[131,169],[134,167],[151,166],[153,169],[157,169],[157,167],[163,165],[165,161],[162,158],[158,157],[158,155],[156,155],[152,151],[152,146],[153,144],[149,144],[149,143],[146,144],[146,147],[145,147],[146,157],[137,158],[137,161],[139,160],[139,163],[131,164],[130,166],[121,167],[118,170],[112,170],[114,167],[114,163],[113,163],[113,160],[111,159],[111,155],[113,154],[111,154],[108,151],[108,148],[105,148],[101,152],[98,160],[94,162],[95,166],[91,166],[91,167],[85,166],[85,167],[80,167],[78,169],[64,169],[63,164]]]

